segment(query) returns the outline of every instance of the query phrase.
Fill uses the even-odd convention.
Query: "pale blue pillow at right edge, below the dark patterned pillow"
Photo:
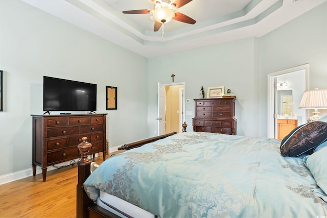
[[[327,193],[327,147],[309,155],[305,161],[311,174],[315,178],[317,185]]]

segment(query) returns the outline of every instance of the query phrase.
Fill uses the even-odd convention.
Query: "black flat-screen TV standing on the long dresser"
[[[97,84],[43,77],[43,111],[95,111]]]

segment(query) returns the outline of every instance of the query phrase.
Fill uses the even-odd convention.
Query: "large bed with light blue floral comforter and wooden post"
[[[297,133],[171,133],[125,146],[90,176],[84,149],[77,217],[326,217],[327,136],[303,152]]]

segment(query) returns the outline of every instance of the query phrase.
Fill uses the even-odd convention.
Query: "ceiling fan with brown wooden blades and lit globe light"
[[[154,9],[141,9],[141,10],[131,10],[123,11],[124,14],[152,14],[154,23],[154,32],[158,31],[161,25],[169,22],[171,19],[194,24],[196,21],[185,14],[180,12],[175,12],[176,8],[180,8],[192,0],[151,0],[154,4]]]

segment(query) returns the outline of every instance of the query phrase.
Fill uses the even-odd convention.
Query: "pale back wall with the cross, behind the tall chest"
[[[200,87],[205,95],[207,87],[225,86],[237,96],[235,116],[238,118],[239,135],[256,135],[258,128],[253,123],[258,108],[255,91],[255,38],[208,46],[201,49],[180,52],[149,60],[148,72],[148,122],[149,134],[157,130],[157,83],[185,82],[185,110],[193,115],[185,115],[188,128],[192,131],[194,101],[199,98]],[[187,113],[186,113],[187,114]]]

